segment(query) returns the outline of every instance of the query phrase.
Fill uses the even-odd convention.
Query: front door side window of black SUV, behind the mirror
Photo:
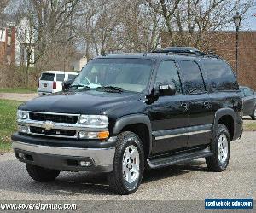
[[[176,93],[181,94],[181,83],[177,73],[177,67],[174,61],[165,60],[160,63],[155,83],[171,83],[173,82],[176,87]]]

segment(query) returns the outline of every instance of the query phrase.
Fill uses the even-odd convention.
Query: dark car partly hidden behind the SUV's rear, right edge
[[[240,87],[243,102],[243,115],[249,115],[256,119],[256,93],[253,89],[248,87]]]

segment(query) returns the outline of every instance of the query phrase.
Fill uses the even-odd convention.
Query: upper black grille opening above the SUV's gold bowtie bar
[[[76,124],[78,122],[77,115],[60,115],[40,112],[30,112],[29,118],[38,121],[53,121],[56,123]]]

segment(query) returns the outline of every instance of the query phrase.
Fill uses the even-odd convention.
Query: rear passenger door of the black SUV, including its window
[[[212,105],[201,68],[195,60],[179,60],[179,66],[189,113],[188,147],[208,144],[211,140]]]

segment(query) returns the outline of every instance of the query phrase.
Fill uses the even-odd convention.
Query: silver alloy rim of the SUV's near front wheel
[[[123,177],[128,183],[132,183],[140,176],[140,154],[137,147],[126,147],[123,156]]]

